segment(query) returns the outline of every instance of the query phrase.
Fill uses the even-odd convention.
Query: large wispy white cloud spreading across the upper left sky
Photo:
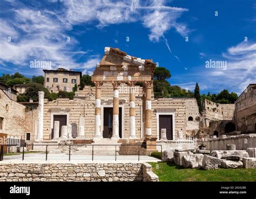
[[[89,70],[99,59],[97,55],[87,56],[87,61],[81,64],[77,58],[87,54],[78,50],[79,42],[70,38],[67,42],[67,31],[74,25],[95,24],[98,28],[111,24],[142,22],[150,30],[149,39],[159,42],[164,38],[166,46],[171,48],[164,33],[171,28],[181,35],[188,30],[177,19],[187,9],[165,6],[165,1],[60,1],[58,9],[44,8],[41,2],[26,6],[22,2],[6,1],[12,7],[6,11],[11,13],[11,21],[0,18],[0,63],[12,63],[28,67],[29,61],[50,60],[52,67],[59,65],[69,68]],[[55,4],[56,1],[52,1]],[[38,15],[40,11],[40,15]],[[155,16],[158,12],[159,16]],[[12,41],[7,38],[11,36]],[[114,42],[117,43],[117,40]],[[79,63],[78,63],[79,62]],[[85,66],[85,64],[87,66]]]

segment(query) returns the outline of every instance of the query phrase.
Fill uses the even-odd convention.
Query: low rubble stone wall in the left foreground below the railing
[[[158,181],[142,163],[0,163],[0,181]]]

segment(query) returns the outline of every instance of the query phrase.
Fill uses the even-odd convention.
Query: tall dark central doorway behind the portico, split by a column
[[[119,137],[122,138],[122,107],[119,107]],[[113,108],[103,110],[103,138],[111,138],[113,134]]]

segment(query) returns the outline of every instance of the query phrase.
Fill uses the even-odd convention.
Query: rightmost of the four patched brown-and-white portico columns
[[[146,112],[145,112],[145,132],[146,136],[151,136],[151,86],[152,81],[145,81],[145,93],[146,93]]]

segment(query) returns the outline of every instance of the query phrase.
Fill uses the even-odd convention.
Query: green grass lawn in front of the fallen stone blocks
[[[150,162],[159,181],[256,181],[256,169],[185,169],[172,162]]]

